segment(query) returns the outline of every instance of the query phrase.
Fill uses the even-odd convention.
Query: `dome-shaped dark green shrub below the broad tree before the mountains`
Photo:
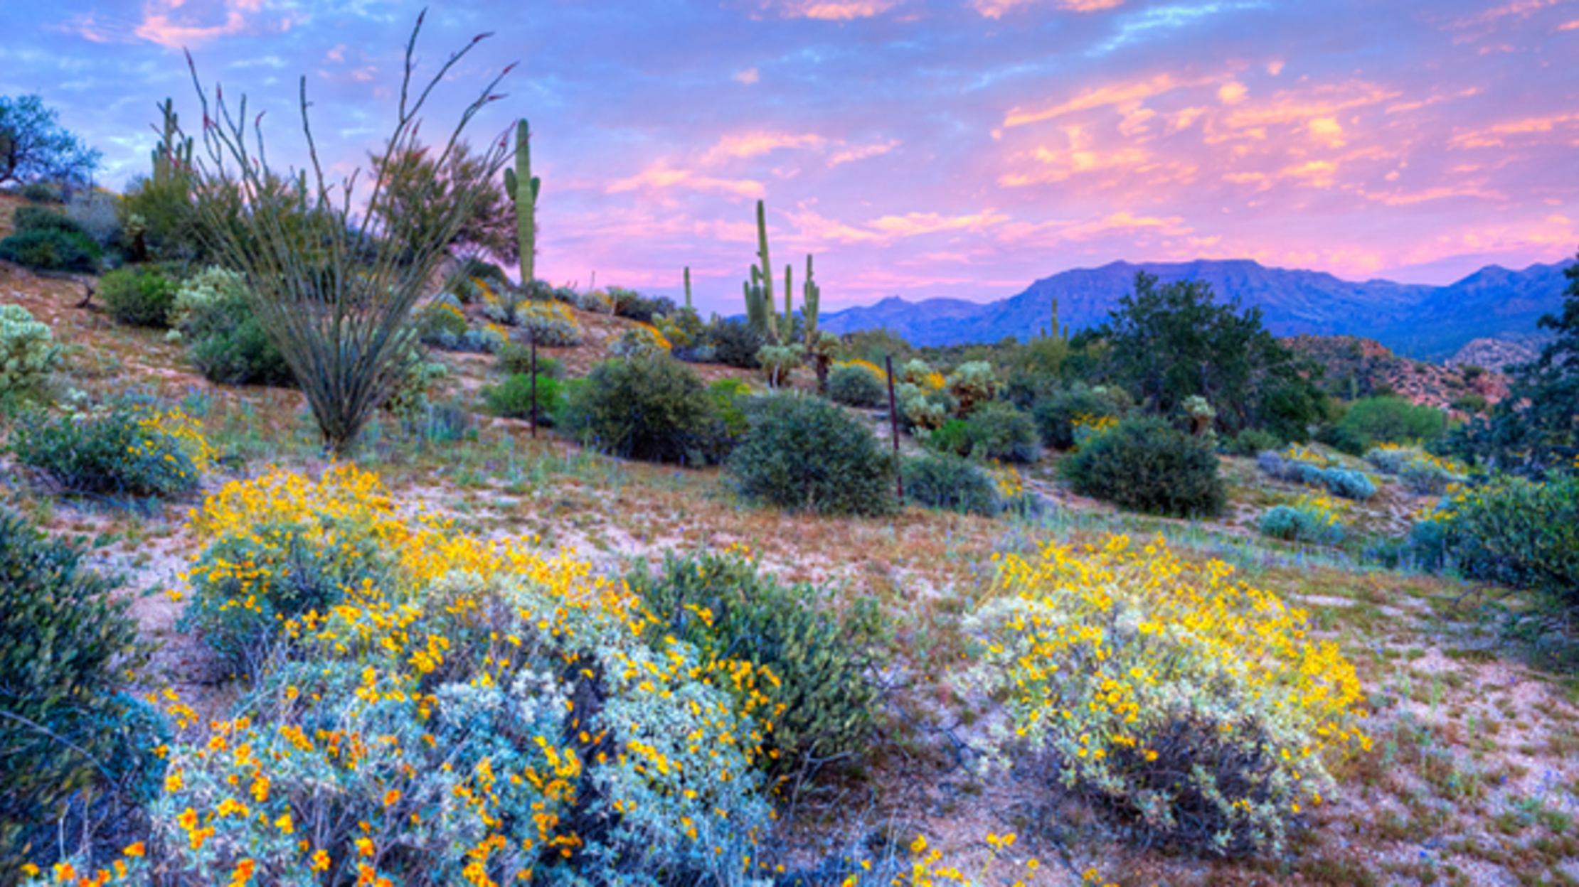
[[[1060,462],[1083,496],[1135,511],[1208,516],[1227,488],[1211,447],[1156,417],[1126,418]]]

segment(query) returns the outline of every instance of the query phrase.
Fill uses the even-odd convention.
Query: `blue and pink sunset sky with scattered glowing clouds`
[[[264,110],[268,158],[365,164],[422,6],[6,3],[0,95],[150,167],[156,104]],[[507,0],[428,8],[417,74],[480,35],[425,133],[532,128],[540,278],[741,311],[815,254],[823,308],[987,301],[1112,260],[1451,283],[1579,246],[1579,0]],[[594,278],[595,275],[595,278]]]

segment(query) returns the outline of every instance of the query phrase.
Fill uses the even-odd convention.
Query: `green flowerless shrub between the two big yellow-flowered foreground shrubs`
[[[826,587],[782,584],[736,554],[665,554],[627,576],[647,612],[646,638],[662,650],[673,638],[703,660],[750,661],[774,680],[756,688],[766,709],[783,710],[758,758],[771,778],[810,775],[857,756],[878,710],[881,611],[870,597],[838,606]]]

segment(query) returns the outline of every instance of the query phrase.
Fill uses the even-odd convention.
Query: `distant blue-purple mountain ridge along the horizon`
[[[1533,336],[1535,320],[1562,305],[1563,268],[1571,264],[1530,265],[1522,271],[1489,265],[1437,287],[1385,279],[1355,283],[1326,271],[1268,268],[1251,259],[1112,262],[1042,278],[998,301],[889,297],[824,314],[820,325],[835,333],[886,327],[917,346],[995,342],[1004,336],[1025,341],[1047,327],[1053,298],[1060,322],[1075,330],[1093,327],[1132,290],[1135,271],[1146,271],[1162,283],[1203,281],[1219,301],[1238,298],[1241,308],[1260,306],[1266,327],[1277,336],[1366,336],[1407,357],[1445,360],[1470,339]]]

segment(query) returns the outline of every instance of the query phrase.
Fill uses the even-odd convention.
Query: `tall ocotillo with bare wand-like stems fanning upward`
[[[418,112],[433,88],[486,36],[452,54],[414,92],[422,21],[418,16],[406,43],[399,114],[384,142],[385,156],[418,150]],[[493,177],[504,163],[502,139],[463,170],[452,167],[452,158],[472,117],[501,98],[493,90],[510,68],[466,106],[433,156],[436,169],[456,174],[448,182],[450,199],[431,216],[414,218],[401,213],[395,164],[374,167],[365,205],[354,202],[360,197],[360,169],[339,183],[325,177],[306,114],[306,77],[300,106],[311,163],[298,175],[281,175],[262,156],[261,134],[248,133],[245,96],[235,114],[218,87],[210,103],[189,57],[188,65],[204,107],[202,152],[191,175],[197,216],[226,264],[246,275],[254,314],[302,385],[325,450],[344,456],[373,410],[401,382],[415,344],[411,309],[434,265],[494,188]],[[248,148],[254,137],[257,153]]]

